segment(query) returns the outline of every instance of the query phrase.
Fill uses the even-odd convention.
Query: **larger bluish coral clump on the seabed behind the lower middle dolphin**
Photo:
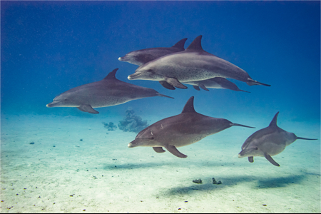
[[[119,121],[118,128],[123,131],[140,132],[148,126],[147,121],[142,121],[140,116],[137,116],[132,108],[128,108],[125,112],[126,116],[123,121]]]

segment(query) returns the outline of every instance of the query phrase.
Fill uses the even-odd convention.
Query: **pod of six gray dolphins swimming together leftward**
[[[200,91],[202,88],[224,88],[233,91],[243,91],[235,83],[226,78],[243,81],[249,86],[270,86],[253,80],[242,68],[225,61],[203,50],[201,46],[202,36],[198,36],[184,49],[185,39],[181,39],[169,48],[151,48],[131,51],[119,61],[126,61],[138,65],[135,73],[128,76],[129,80],[141,79],[158,81],[165,88],[188,88],[184,84],[192,85]],[[131,83],[120,81],[116,78],[118,68],[108,73],[101,81],[71,88],[54,98],[47,107],[76,107],[80,111],[98,113],[93,108],[116,106],[128,101],[148,98],[153,96],[165,96],[152,88],[136,86]],[[183,84],[184,83],[184,84]],[[248,91],[243,91],[248,92]],[[253,163],[253,157],[265,157],[273,165],[280,166],[271,156],[275,156],[285,150],[286,146],[297,139],[317,140],[300,138],[294,133],[287,132],[277,126],[278,112],[275,114],[267,128],[253,133],[243,143],[239,158],[248,157]],[[164,118],[143,129],[136,139],[128,144],[129,148],[137,146],[153,147],[156,153],[163,153],[165,148],[174,156],[186,158],[178,151],[178,147],[196,143],[206,136],[213,135],[231,126],[250,126],[232,123],[223,118],[212,118],[197,113],[194,109],[194,97],[192,96],[185,104],[182,113],[177,116]]]

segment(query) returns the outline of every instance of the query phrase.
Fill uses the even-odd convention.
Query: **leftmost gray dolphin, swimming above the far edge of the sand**
[[[111,71],[101,81],[71,88],[54,98],[47,107],[77,107],[80,111],[99,113],[93,108],[116,106],[128,101],[151,96],[165,96],[152,88],[135,86],[116,78],[116,71]],[[170,96],[165,96],[172,98]]]

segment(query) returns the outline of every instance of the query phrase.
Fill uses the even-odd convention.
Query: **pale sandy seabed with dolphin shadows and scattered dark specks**
[[[320,123],[279,116],[280,128],[319,140],[295,141],[273,156],[276,167],[238,158],[272,116],[227,119],[256,129],[228,128],[178,148],[188,158],[177,158],[128,148],[136,133],[101,123],[121,118],[2,115],[1,213],[320,213]]]

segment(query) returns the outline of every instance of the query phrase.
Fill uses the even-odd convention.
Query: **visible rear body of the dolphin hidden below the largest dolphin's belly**
[[[233,91],[243,91],[243,90],[240,90],[240,88],[238,88],[238,86],[236,86],[234,83],[222,77],[215,77],[215,78],[209,78],[203,81],[190,81],[190,82],[183,82],[183,83],[188,85],[193,85],[193,87],[198,91],[200,91],[200,88],[202,88],[205,91],[209,91],[208,88],[224,88],[224,89],[230,89]],[[244,92],[248,92],[248,91],[244,91]]]

